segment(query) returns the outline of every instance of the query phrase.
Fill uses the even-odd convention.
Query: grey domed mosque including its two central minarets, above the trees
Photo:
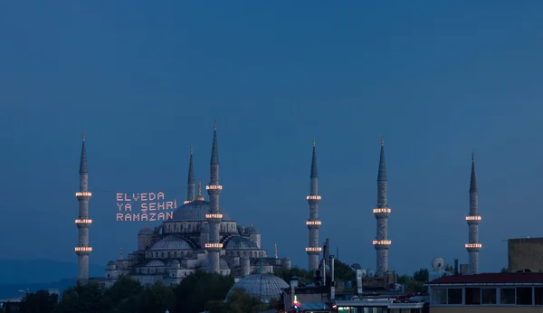
[[[205,187],[209,200],[202,194],[202,184],[195,193],[193,154],[189,159],[188,191],[185,204],[176,208],[173,217],[157,227],[144,227],[138,232],[138,251],[110,261],[104,285],[112,285],[119,277],[130,277],[144,284],[161,280],[178,283],[196,270],[232,274],[242,278],[262,268],[262,273],[290,269],[289,258],[268,257],[262,249],[261,233],[251,223],[236,223],[219,205],[219,153],[216,124],[210,162],[210,184]]]

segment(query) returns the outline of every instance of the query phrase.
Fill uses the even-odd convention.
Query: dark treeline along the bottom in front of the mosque
[[[233,278],[196,272],[181,283],[166,286],[162,282],[142,286],[138,280],[119,279],[109,289],[97,283],[78,284],[66,289],[59,301],[45,290],[29,293],[21,303],[21,313],[171,313],[203,312],[252,313],[270,309],[273,303],[262,303],[243,289],[234,289]],[[0,312],[5,312],[0,308]]]

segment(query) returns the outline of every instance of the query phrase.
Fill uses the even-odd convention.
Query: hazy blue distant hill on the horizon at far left
[[[90,265],[90,277],[103,277],[105,266]],[[77,263],[0,259],[0,284],[41,284],[77,278]]]

